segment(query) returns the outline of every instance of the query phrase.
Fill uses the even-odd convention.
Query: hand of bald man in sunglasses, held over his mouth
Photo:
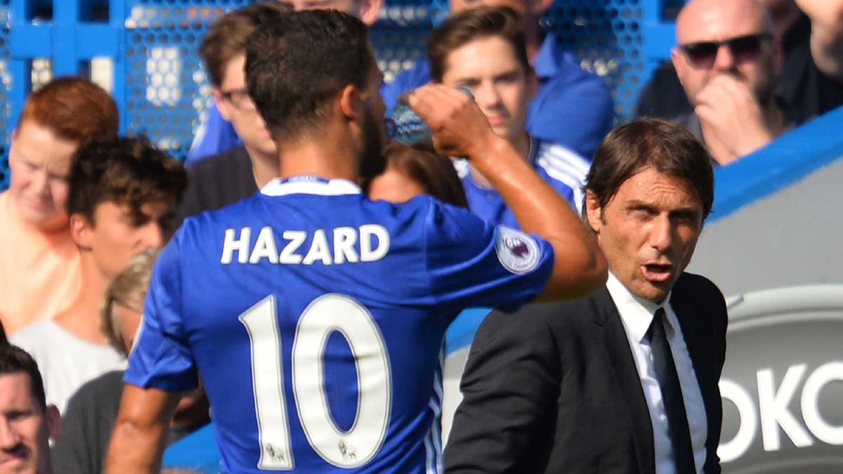
[[[775,137],[749,85],[732,74],[711,78],[695,102],[706,142],[721,143],[736,158],[754,152]]]

